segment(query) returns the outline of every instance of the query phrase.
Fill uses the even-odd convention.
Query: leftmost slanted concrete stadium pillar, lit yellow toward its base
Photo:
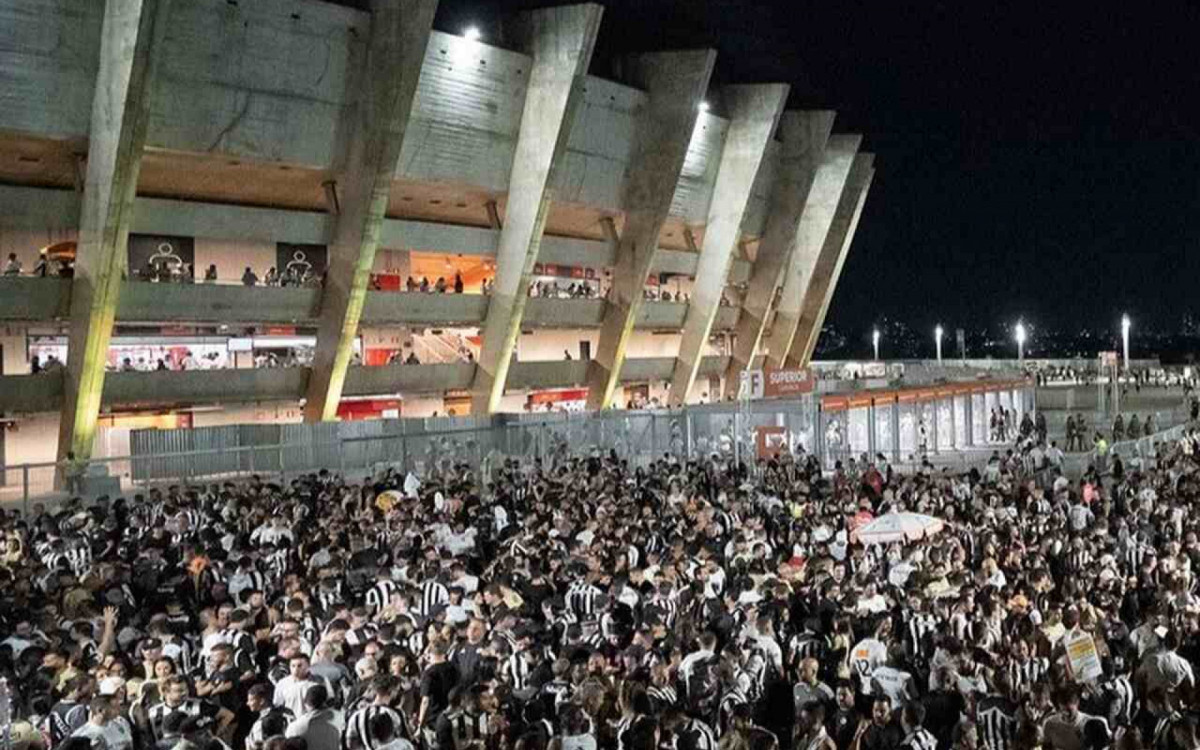
[[[71,290],[59,458],[91,456],[104,365],[126,266],[150,94],[170,0],[108,0],[91,103],[88,167]]]

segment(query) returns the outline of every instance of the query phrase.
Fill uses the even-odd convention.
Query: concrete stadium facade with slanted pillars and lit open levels
[[[808,364],[874,175],[858,136],[787,109],[786,85],[713,86],[713,50],[590,76],[598,5],[515,16],[499,41],[433,30],[436,5],[0,0],[0,252],[26,271],[76,253],[71,278],[0,278],[0,410],[59,412],[59,455],[88,456],[103,410],[302,400],[319,421],[452,391],[480,414],[552,388],[611,408],[644,383],[679,404],[764,358]],[[131,234],[187,238],[197,283],[137,280]],[[276,246],[322,247],[324,283],[199,283],[262,274]],[[488,294],[373,281],[422,253],[484,269]],[[530,296],[548,269],[602,294]],[[311,330],[311,362],[107,372],[122,330],[271,326]],[[469,361],[355,361],[368,330],[456,326]],[[554,331],[588,347],[565,361]],[[65,340],[61,371],[26,374],[35,335]],[[554,359],[526,356],[539,337]]]

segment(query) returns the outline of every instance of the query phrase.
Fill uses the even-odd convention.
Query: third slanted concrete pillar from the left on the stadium
[[[548,186],[566,150],[602,13],[599,5],[570,5],[533,11],[520,19],[523,47],[533,55],[533,70],[496,252],[496,284],[472,384],[472,414],[496,412],[504,395],[550,211]]]

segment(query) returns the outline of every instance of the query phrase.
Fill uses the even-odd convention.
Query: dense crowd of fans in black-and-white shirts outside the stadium
[[[0,676],[22,749],[1192,750],[1198,468],[593,451],[35,506]],[[856,542],[890,511],[946,528]]]

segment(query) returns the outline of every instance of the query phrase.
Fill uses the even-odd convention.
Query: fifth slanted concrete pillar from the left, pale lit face
[[[708,342],[713,319],[721,304],[721,293],[728,280],[733,251],[742,236],[750,192],[784,113],[787,92],[788,86],[785,84],[728,86],[722,91],[724,104],[731,118],[730,130],[721,149],[716,186],[713,188],[704,240],[696,263],[691,305],[671,378],[668,403],[672,407],[686,402],[688,391],[696,380],[704,343]]]

